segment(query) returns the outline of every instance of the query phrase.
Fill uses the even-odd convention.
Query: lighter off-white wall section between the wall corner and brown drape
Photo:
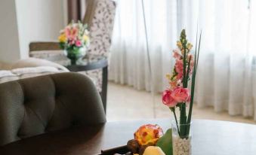
[[[63,0],[16,0],[20,57],[29,56],[29,42],[57,40],[63,28]]]

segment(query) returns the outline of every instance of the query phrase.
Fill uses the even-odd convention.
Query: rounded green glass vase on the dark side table
[[[85,57],[86,47],[76,47],[69,50],[64,50],[64,54],[70,59],[71,65],[78,65],[78,61]]]

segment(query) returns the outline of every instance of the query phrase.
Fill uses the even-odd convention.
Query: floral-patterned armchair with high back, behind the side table
[[[91,44],[88,48],[88,59],[95,56],[109,56],[111,37],[113,33],[116,3],[112,0],[88,0],[85,19],[83,23],[88,23],[90,30]],[[48,59],[60,65],[68,65],[69,59],[63,55],[57,41],[32,42],[29,44],[29,56]],[[97,90],[101,94],[106,94],[106,87],[103,88],[102,69],[83,71],[82,74],[88,75],[96,84]],[[107,78],[107,77],[106,77]],[[105,79],[107,80],[107,79]],[[103,102],[106,103],[106,97]]]

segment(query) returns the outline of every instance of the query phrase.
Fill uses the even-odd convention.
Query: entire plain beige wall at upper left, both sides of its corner
[[[66,0],[1,0],[0,61],[28,57],[31,41],[57,40],[66,12]]]

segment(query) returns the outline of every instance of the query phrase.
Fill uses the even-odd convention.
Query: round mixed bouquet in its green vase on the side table
[[[87,24],[80,21],[69,23],[64,29],[60,30],[59,42],[60,48],[66,51],[66,56],[71,59],[72,63],[85,56],[85,51],[90,44]]]

